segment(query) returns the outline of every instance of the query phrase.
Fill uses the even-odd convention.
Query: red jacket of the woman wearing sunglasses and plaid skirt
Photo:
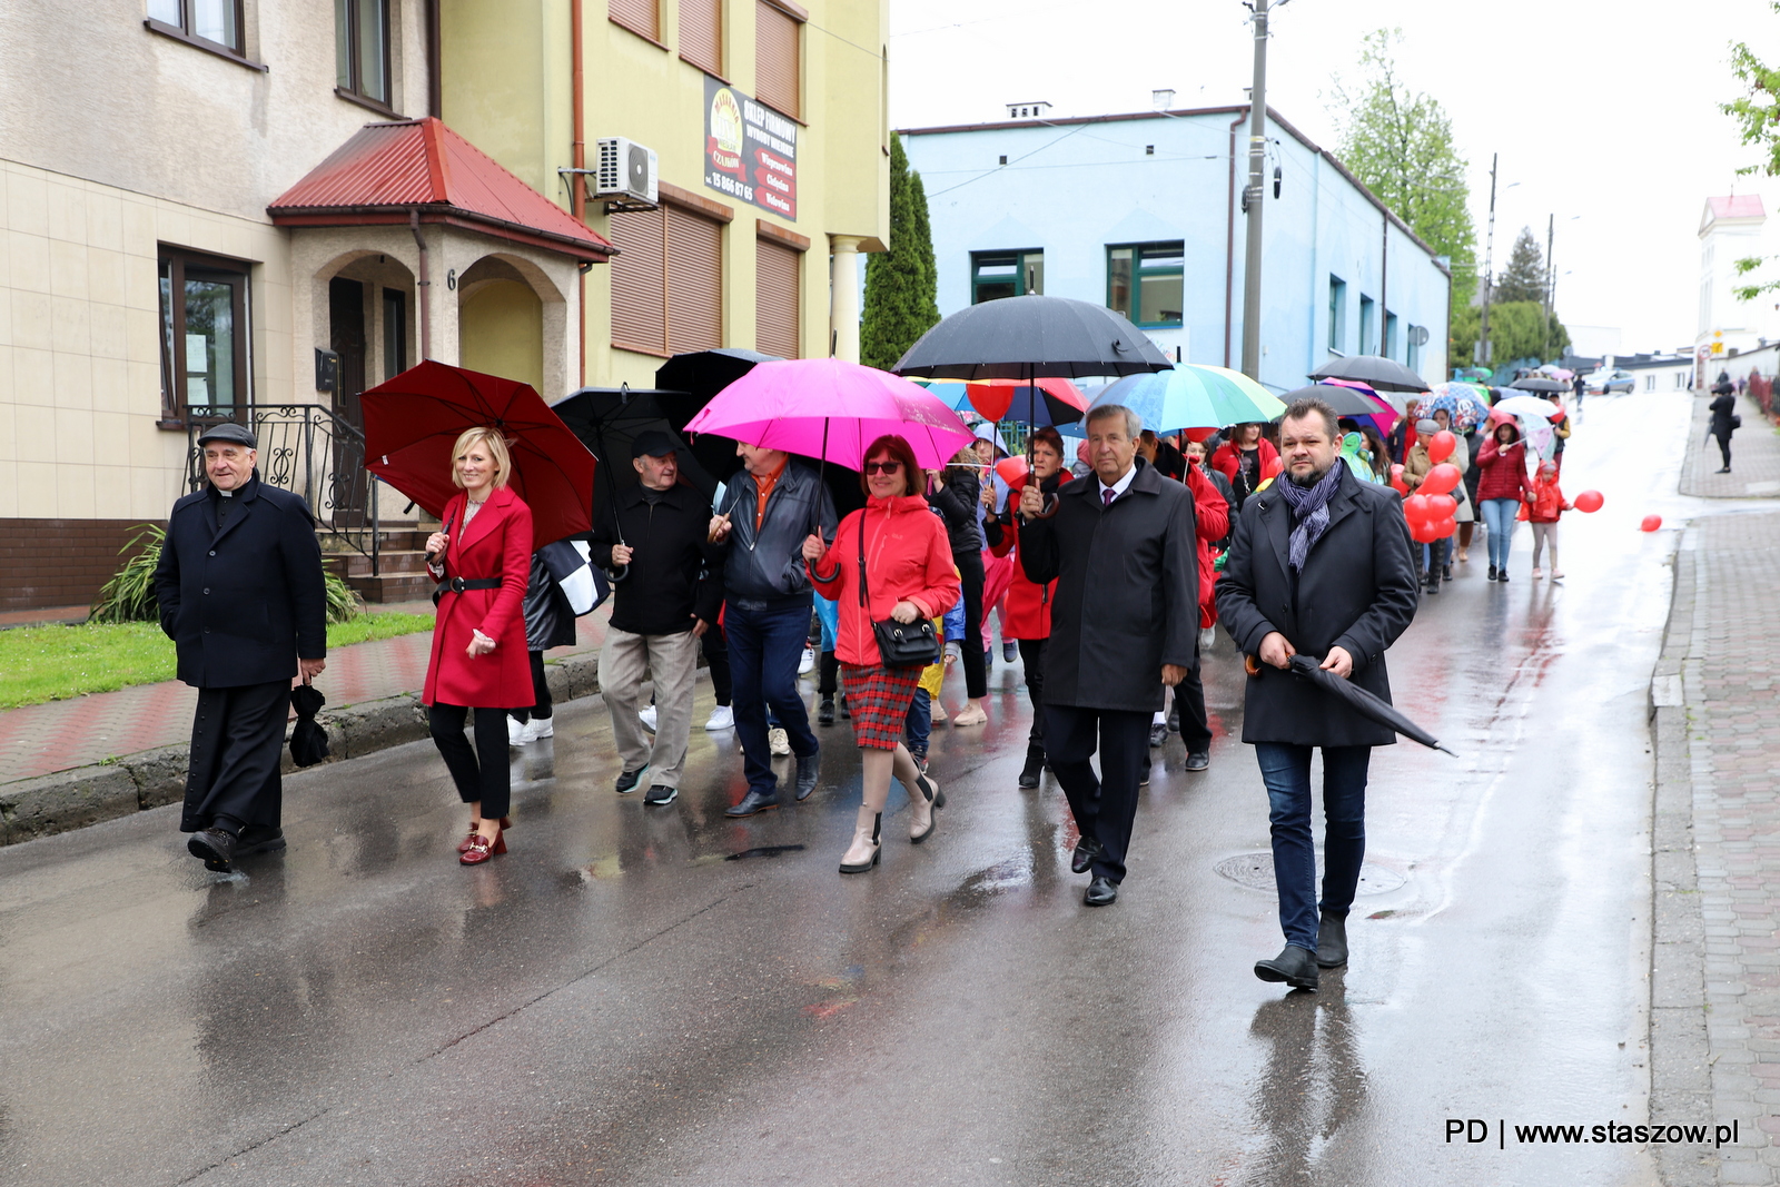
[[[862,530],[867,605],[860,605]],[[922,618],[940,618],[958,602],[952,543],[920,495],[869,498],[840,521],[835,543],[808,569],[815,593],[840,610],[835,658],[854,667],[879,664],[872,623],[888,619],[897,602],[913,602]]]

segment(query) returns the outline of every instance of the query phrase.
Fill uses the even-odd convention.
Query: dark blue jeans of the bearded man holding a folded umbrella
[[[1257,742],[1260,781],[1273,824],[1273,881],[1280,890],[1285,943],[1317,950],[1317,849],[1310,833],[1310,751],[1314,746]],[[1323,902],[1347,918],[1365,860],[1365,771],[1371,746],[1323,747]]]

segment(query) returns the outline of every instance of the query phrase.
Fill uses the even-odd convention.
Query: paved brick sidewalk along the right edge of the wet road
[[[1739,1141],[1698,1162],[1677,1159],[1664,1180],[1780,1183],[1780,513],[1696,520],[1677,585],[1670,639],[1680,653],[1686,751],[1675,781],[1691,783],[1693,861],[1684,835],[1664,849],[1659,820],[1657,881],[1668,904],[1659,902],[1655,1038],[1661,1045],[1668,1027],[1671,1041],[1686,1043],[1703,1016],[1703,1045],[1668,1064],[1659,1057],[1652,1093],[1654,1102],[1668,1093],[1677,1107],[1691,1096],[1709,1110],[1687,1121],[1736,1119]],[[1659,815],[1663,801],[1659,790]],[[1671,858],[1684,865],[1664,876]],[[1664,927],[1664,909],[1679,925]],[[1664,945],[1675,941],[1677,957],[1703,949],[1703,975],[1698,956],[1664,968]]]

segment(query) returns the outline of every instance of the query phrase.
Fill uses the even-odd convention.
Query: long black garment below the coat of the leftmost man
[[[198,690],[180,831],[278,828],[285,806],[278,762],[288,717],[288,680]]]

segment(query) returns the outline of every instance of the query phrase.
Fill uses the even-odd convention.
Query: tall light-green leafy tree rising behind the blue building
[[[1403,30],[1378,28],[1360,50],[1363,80],[1335,80],[1330,105],[1340,130],[1337,155],[1372,194],[1452,260],[1452,306],[1477,290],[1477,228],[1470,221],[1467,162],[1452,144],[1452,121],[1440,101],[1397,78],[1392,46]]]

